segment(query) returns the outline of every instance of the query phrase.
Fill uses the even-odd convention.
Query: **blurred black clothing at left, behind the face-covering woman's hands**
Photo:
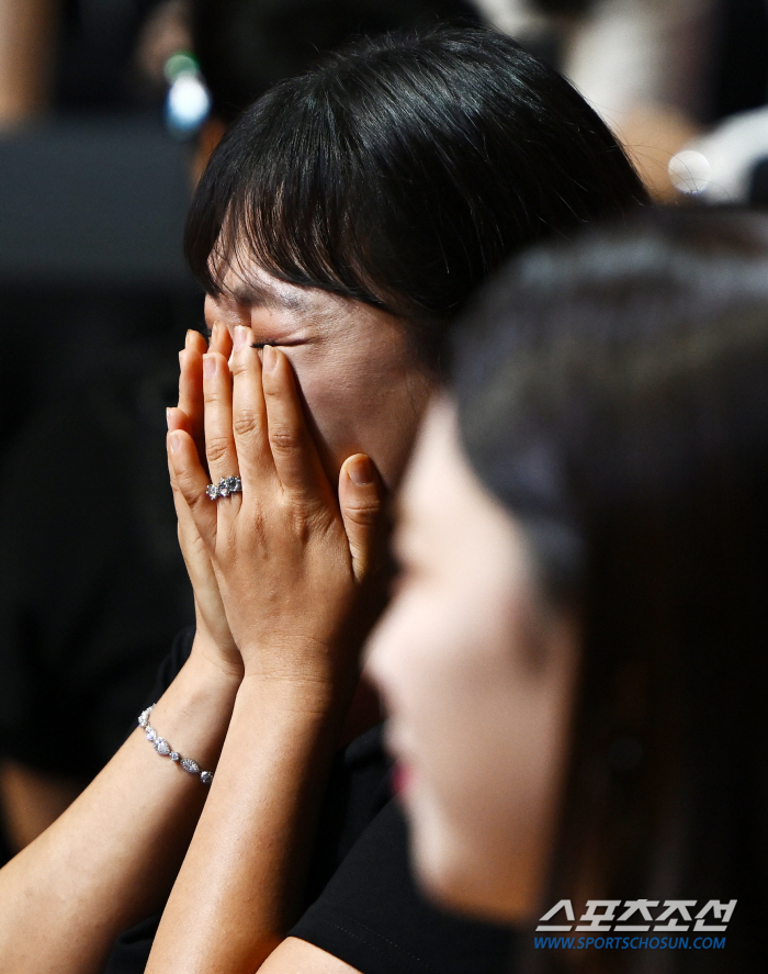
[[[41,404],[3,464],[0,757],[82,784],[193,618],[165,451],[171,344],[97,356]]]

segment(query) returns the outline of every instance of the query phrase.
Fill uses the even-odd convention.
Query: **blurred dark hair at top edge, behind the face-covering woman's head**
[[[471,0],[194,0],[192,41],[224,122],[355,37],[481,23]]]

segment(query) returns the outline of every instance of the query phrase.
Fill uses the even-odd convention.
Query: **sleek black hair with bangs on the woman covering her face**
[[[261,98],[214,153],[185,248],[210,293],[252,257],[434,337],[509,253],[645,202],[560,75],[501,34],[438,27],[361,42]]]

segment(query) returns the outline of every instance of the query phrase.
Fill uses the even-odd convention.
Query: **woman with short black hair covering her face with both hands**
[[[377,720],[355,687],[385,595],[384,497],[445,323],[473,288],[523,244],[643,202],[580,97],[481,30],[363,43],[235,124],[188,229],[211,344],[188,335],[169,415],[196,631],[143,729],[0,873],[3,971],[101,970],[115,936],[171,886],[151,974],[419,970],[425,953],[399,928],[374,933],[370,964],[307,942],[305,928],[286,939],[317,886],[343,889],[339,862],[361,833],[375,839],[352,906],[371,908],[350,939],[392,906],[403,840],[375,831],[373,798],[365,814],[350,805],[357,784],[331,785],[316,839],[348,715],[358,729]],[[325,871],[310,893],[314,846]],[[417,937],[414,916],[407,925]],[[447,964],[464,974],[453,943]]]

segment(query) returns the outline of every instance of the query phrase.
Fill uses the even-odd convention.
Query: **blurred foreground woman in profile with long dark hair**
[[[765,970],[768,224],[532,251],[452,390],[372,660],[421,880],[531,970]]]

